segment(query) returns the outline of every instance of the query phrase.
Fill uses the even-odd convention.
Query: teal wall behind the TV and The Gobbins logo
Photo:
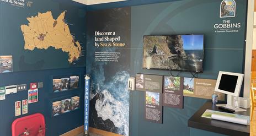
[[[115,3],[115,7],[140,4],[141,1]],[[160,1],[159,1],[160,2]],[[162,1],[161,1],[162,2]],[[131,76],[136,73],[170,75],[163,70],[142,69],[143,35],[204,34],[204,73],[199,78],[216,79],[218,71],[243,73],[246,0],[237,0],[236,18],[220,18],[222,0],[186,0],[131,7]],[[150,2],[148,2],[150,3]],[[147,3],[143,3],[147,4]],[[114,8],[111,4],[88,6],[88,10]],[[239,32],[215,33],[214,24],[222,20],[241,23]],[[174,75],[178,72],[172,72]],[[188,72],[181,77],[191,77]],[[220,135],[188,127],[188,119],[207,101],[184,97],[184,109],[163,107],[163,124],[143,119],[144,93],[130,93],[130,135]]]

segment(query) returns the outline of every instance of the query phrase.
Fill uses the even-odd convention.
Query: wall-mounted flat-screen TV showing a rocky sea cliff
[[[143,37],[143,68],[202,72],[204,35]]]

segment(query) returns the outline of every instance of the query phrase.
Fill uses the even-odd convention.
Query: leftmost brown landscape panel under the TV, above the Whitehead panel
[[[162,75],[136,74],[135,80],[136,90],[138,91],[163,92]]]

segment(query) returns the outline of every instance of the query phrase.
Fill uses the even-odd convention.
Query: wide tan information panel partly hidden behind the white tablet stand
[[[217,80],[212,79],[184,78],[184,96],[211,99],[212,94],[214,94],[216,81]],[[224,94],[219,92],[215,93],[218,95],[218,100],[225,100]]]

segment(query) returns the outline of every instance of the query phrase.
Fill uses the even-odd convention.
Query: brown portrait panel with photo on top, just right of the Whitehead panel
[[[183,108],[183,78],[164,76],[163,106]]]

